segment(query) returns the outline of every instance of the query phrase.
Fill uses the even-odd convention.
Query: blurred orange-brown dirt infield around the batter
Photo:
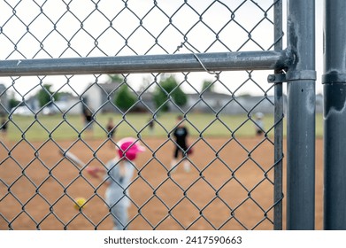
[[[58,153],[58,146],[72,147],[89,166],[100,167],[115,154],[103,142],[23,141],[7,143],[9,151],[1,146],[0,229],[111,229],[102,182]],[[171,176],[173,143],[152,138],[143,143],[148,149],[136,160],[129,188],[129,229],[273,229],[272,143],[199,140],[190,156],[192,170],[186,173],[180,165]],[[321,140],[316,147],[316,229],[321,229]],[[88,199],[81,213],[73,208],[78,197]]]

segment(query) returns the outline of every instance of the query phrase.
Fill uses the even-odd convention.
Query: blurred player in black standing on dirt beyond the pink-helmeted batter
[[[174,129],[173,136],[175,137],[175,151],[173,154],[173,160],[171,163],[171,167],[176,167],[177,165],[177,159],[179,152],[181,152],[182,159],[185,159],[184,161],[184,169],[186,172],[190,171],[190,164],[188,163],[188,160],[186,160],[188,156],[188,128],[186,128],[182,122],[183,118],[182,116],[178,116],[177,119],[177,127]]]

